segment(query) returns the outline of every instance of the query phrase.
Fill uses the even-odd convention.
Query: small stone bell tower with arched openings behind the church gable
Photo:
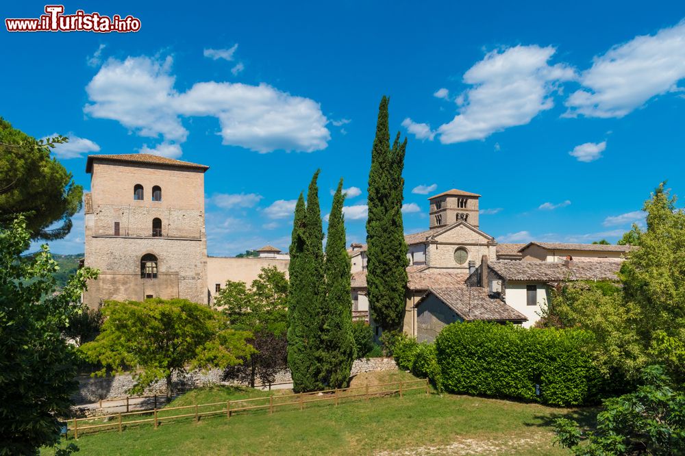
[[[478,227],[479,194],[453,188],[430,197],[430,229],[440,229],[464,221]]]

